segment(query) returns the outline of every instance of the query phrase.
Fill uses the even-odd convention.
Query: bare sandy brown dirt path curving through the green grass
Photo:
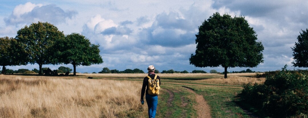
[[[208,103],[204,100],[202,95],[198,95],[192,89],[186,88],[189,92],[192,92],[196,95],[197,105],[193,106],[197,110],[198,118],[212,118],[211,110]]]

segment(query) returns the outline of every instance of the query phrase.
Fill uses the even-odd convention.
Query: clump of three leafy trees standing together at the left
[[[15,38],[0,37],[1,73],[7,73],[5,66],[36,63],[39,74],[46,64],[72,64],[76,75],[76,66],[103,63],[98,47],[79,33],[64,35],[48,22],[32,23],[19,29]]]

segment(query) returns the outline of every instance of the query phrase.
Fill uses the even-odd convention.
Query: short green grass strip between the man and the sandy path
[[[188,92],[180,85],[165,84],[161,87],[163,89],[159,95],[156,117],[197,118],[197,112],[193,108],[193,104],[196,104],[193,93]],[[167,91],[172,92],[173,95]]]

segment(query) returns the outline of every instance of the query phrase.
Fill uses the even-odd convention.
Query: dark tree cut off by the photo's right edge
[[[298,42],[295,42],[295,47],[292,48],[295,61],[292,64],[295,67],[308,67],[308,29],[302,32],[297,37]]]

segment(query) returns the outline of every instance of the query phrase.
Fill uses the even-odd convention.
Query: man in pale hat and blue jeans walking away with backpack
[[[142,89],[141,89],[141,103],[143,104],[144,93],[145,99],[148,104],[148,115],[149,118],[155,118],[156,115],[156,108],[158,103],[158,94],[160,89],[160,77],[155,75],[154,73],[155,67],[154,65],[150,65],[148,67],[148,76],[144,77]]]

